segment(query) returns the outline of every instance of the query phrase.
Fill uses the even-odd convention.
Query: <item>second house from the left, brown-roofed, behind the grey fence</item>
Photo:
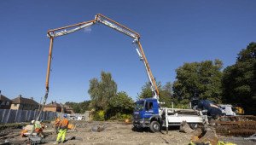
[[[16,97],[15,99],[12,100],[12,105],[10,109],[13,110],[36,110],[38,109],[39,104],[38,102],[35,102],[33,100],[33,97],[30,99],[24,98],[21,95]]]

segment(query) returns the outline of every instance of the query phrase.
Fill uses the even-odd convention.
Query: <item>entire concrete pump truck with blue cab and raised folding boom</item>
[[[122,26],[118,22],[113,21],[102,14],[96,14],[95,20],[82,22],[72,26],[64,26],[61,28],[48,31],[47,36],[50,38],[50,44],[49,44],[49,61],[48,61],[48,69],[47,69],[47,78],[46,78],[46,93],[44,96],[43,107],[41,107],[40,112],[38,114],[38,119],[41,116],[42,110],[44,109],[44,105],[49,94],[49,70],[50,70],[50,64],[52,59],[53,39],[79,31],[81,29],[84,29],[85,27],[92,26],[95,24],[103,24],[104,26],[108,26],[113,30],[122,32],[125,35],[131,37],[133,39],[132,44],[134,44],[140,60],[143,61],[143,66],[145,67],[145,70],[146,70],[148,81],[153,93],[153,98],[143,99],[136,102],[136,107],[133,113],[133,118],[134,118],[133,125],[135,127],[143,127],[143,128],[149,127],[151,131],[157,132],[157,131],[160,131],[161,126],[168,127],[169,125],[180,125],[180,123],[183,120],[187,121],[190,125],[198,125],[198,124],[204,123],[205,120],[203,118],[203,115],[199,111],[160,107],[162,103],[159,102],[159,90],[157,89],[157,86],[154,81],[154,77],[148,65],[148,61],[146,59],[146,56],[144,55],[143,47],[140,43],[140,35],[137,32],[134,32],[131,29],[125,26]],[[71,28],[74,26],[77,26],[77,27]],[[69,30],[66,30],[67,28],[69,28]]]

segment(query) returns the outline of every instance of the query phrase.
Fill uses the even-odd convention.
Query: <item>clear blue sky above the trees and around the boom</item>
[[[256,1],[0,1],[0,90],[44,97],[50,29],[103,14],[138,32],[152,73],[165,84],[184,62],[220,59],[224,67],[255,42]],[[90,100],[89,80],[112,73],[118,90],[133,99],[148,81],[132,39],[107,26],[55,38],[49,99]]]

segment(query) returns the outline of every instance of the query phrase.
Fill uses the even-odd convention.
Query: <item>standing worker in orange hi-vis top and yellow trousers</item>
[[[60,139],[61,139],[61,142],[65,141],[65,136],[66,136],[66,132],[67,132],[67,126],[68,126],[67,114],[64,114],[63,117],[64,117],[64,119],[61,120],[60,131],[58,133],[57,140],[56,140],[56,142],[54,144],[58,144],[60,142]]]

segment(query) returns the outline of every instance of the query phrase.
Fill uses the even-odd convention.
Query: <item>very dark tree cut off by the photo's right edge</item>
[[[256,43],[241,49],[236,64],[224,69],[224,102],[240,103],[245,113],[256,114]]]

